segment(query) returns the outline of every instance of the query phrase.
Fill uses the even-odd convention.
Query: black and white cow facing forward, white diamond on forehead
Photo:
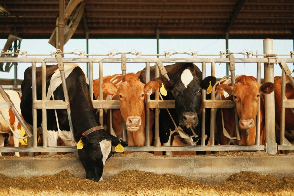
[[[186,142],[195,145],[201,144],[201,107],[202,89],[207,89],[209,82],[211,86],[216,83],[216,78],[208,76],[202,80],[201,71],[193,63],[176,63],[165,66],[170,81],[163,76],[155,78],[155,66],[150,67],[150,80],[159,82],[159,87],[164,84],[167,96],[162,96],[163,100],[175,100],[175,109],[169,109],[178,128],[183,129],[186,134]],[[141,71],[139,79],[146,83],[145,69]],[[210,94],[206,95],[210,99]],[[175,126],[165,109],[160,110],[160,142],[161,145],[169,146],[173,143]],[[196,137],[193,135],[193,130]],[[210,109],[206,110],[206,135],[210,135]],[[188,138],[191,137],[191,138]],[[208,137],[206,139],[206,144]],[[197,152],[201,154],[205,152]],[[165,152],[163,152],[165,154]],[[166,152],[166,155],[172,155]]]

